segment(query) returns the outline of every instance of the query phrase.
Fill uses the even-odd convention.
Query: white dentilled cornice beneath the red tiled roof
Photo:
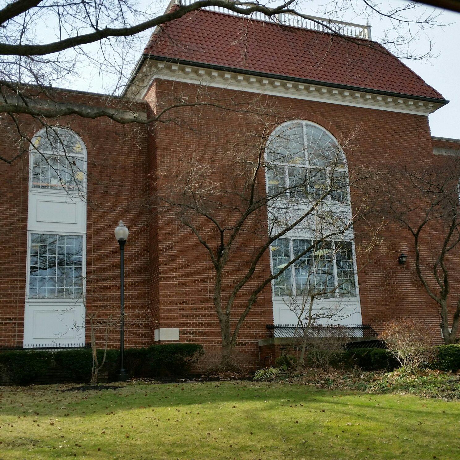
[[[133,82],[133,85],[139,88],[139,98],[144,98],[145,93],[155,79],[181,81],[235,91],[255,92],[283,98],[349,105],[390,112],[403,112],[414,115],[429,115],[443,105],[405,97],[311,85],[278,80],[276,78],[264,78],[236,72],[155,61],[153,59],[146,61],[143,69],[138,74],[137,81]]]

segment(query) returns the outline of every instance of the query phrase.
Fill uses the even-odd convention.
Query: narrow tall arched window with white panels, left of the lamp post
[[[30,144],[24,344],[83,343],[86,147],[66,127]]]

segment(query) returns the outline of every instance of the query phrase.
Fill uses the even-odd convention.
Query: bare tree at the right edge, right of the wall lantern
[[[415,271],[438,305],[444,342],[452,344],[460,317],[459,158],[440,158],[426,169],[406,167],[389,175],[385,212],[412,236]]]

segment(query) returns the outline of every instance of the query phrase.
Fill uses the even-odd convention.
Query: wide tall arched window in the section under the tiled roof
[[[317,204],[317,210],[306,219],[307,224],[290,230],[271,245],[272,273],[306,251],[273,281],[275,321],[289,322],[275,311],[277,303],[282,310],[282,300],[276,299],[287,296],[315,293],[326,302],[347,298],[351,303],[359,303],[352,300],[358,295],[352,229],[335,236],[331,231],[331,222],[351,215],[348,170],[337,140],[315,123],[289,121],[270,135],[265,166],[267,194],[273,198],[269,219],[273,220],[275,233],[282,229],[283,219],[276,217],[274,209],[287,211],[292,219],[312,203]],[[320,219],[329,223],[318,222]],[[322,237],[328,233],[331,236],[318,238],[318,228]]]

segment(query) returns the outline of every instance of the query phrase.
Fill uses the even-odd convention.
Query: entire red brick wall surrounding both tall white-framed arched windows
[[[190,94],[196,86],[157,81],[146,99],[155,110],[155,101],[166,104],[172,93]],[[252,93],[237,95],[219,90],[219,98],[242,98],[252,101]],[[95,97],[72,95],[71,98],[98,104]],[[354,147],[346,149],[351,172],[362,165],[375,171],[398,164],[417,162],[432,165],[439,156],[432,154],[428,119],[384,110],[348,107],[301,101],[292,98],[262,97],[263,103],[281,113],[280,121],[304,119],[314,121],[344,142],[358,128]],[[213,307],[213,268],[207,253],[196,238],[180,224],[172,212],[158,213],[155,178],[160,170],[178,166],[180,153],[196,150],[219,161],[216,152],[231,147],[238,135],[249,129],[241,115],[219,109],[180,109],[171,116],[176,122],[158,124],[150,131],[136,125],[120,125],[106,119],[66,118],[61,121],[75,130],[88,150],[87,208],[87,299],[88,305],[100,311],[105,306],[115,311],[119,302],[119,252],[113,230],[122,219],[130,229],[126,245],[126,308],[137,312],[136,324],[127,327],[127,346],[153,343],[153,330],[179,328],[180,341],[198,342],[206,348],[220,344],[220,330]],[[34,123],[24,118],[29,132]],[[251,129],[254,125],[250,126]],[[0,155],[11,155],[17,146],[14,127],[2,120]],[[14,145],[14,148],[11,148]],[[1,163],[2,201],[0,215],[4,237],[0,242],[0,344],[21,344],[27,242],[27,158],[12,165]],[[223,176],[223,180],[225,177]],[[261,185],[265,187],[265,184]],[[356,197],[353,197],[356,198]],[[261,221],[265,214],[259,216]],[[255,225],[253,222],[252,225]],[[362,228],[355,226],[357,243]],[[214,235],[207,235],[215,245]],[[427,296],[414,271],[412,240],[408,232],[389,224],[382,232],[383,251],[375,251],[375,260],[361,269],[358,278],[362,319],[380,331],[391,319],[416,317],[437,326],[437,306]],[[229,264],[224,290],[228,292],[250,260],[253,239],[242,237]],[[398,265],[399,253],[408,254],[406,265]],[[236,299],[235,312],[245,307],[249,288],[268,276],[268,252],[254,275],[254,282]],[[133,316],[134,317],[134,316]],[[259,295],[247,317],[238,340],[238,348],[258,359],[258,340],[266,337],[265,324],[273,322],[270,287]],[[87,332],[88,328],[87,328]],[[89,337],[87,337],[89,340]],[[118,344],[118,332],[111,335],[111,346]]]

